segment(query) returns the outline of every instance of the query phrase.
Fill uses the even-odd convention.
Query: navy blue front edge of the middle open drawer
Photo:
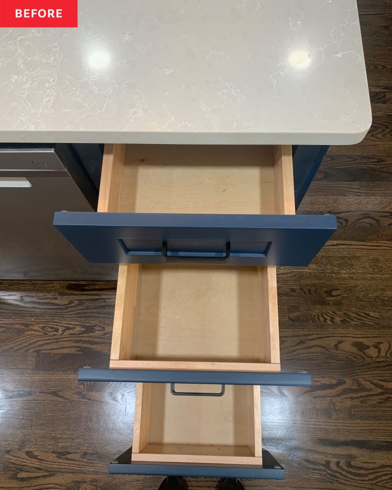
[[[306,372],[174,371],[80,368],[79,381],[114,383],[195,383],[210,385],[311,386]]]

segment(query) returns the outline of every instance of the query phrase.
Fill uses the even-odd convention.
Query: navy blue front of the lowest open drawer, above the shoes
[[[115,475],[203,476],[209,478],[258,478],[284,480],[285,470],[276,459],[263,449],[263,466],[196,466],[196,465],[142,465],[132,463],[132,447],[109,465]]]

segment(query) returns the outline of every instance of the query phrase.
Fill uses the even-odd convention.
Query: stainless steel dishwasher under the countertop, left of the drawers
[[[55,211],[97,209],[94,180],[71,145],[0,146],[0,279],[117,279],[52,225]]]

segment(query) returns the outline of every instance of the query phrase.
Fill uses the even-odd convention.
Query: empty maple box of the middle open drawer
[[[275,268],[120,265],[110,368],[280,371]]]

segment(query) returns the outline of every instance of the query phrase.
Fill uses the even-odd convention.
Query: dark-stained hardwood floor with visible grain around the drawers
[[[358,3],[374,123],[331,147],[300,206],[339,221],[308,268],[278,273],[282,369],[313,386],[263,388],[263,442],[286,480],[248,490],[392,488],[392,0]],[[115,292],[0,281],[0,489],[157,489],[107,474],[131,445],[135,386],[76,380],[108,365]]]

